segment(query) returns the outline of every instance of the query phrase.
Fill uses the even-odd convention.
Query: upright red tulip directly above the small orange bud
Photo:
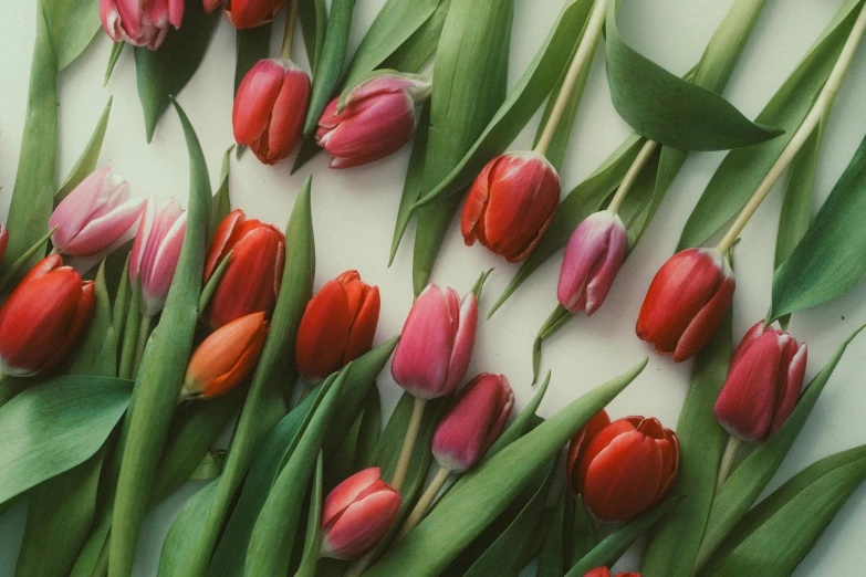
[[[212,329],[251,313],[273,313],[285,266],[285,235],[272,224],[248,220],[238,209],[222,219],[210,241],[205,282],[229,252],[231,259],[205,311]]]

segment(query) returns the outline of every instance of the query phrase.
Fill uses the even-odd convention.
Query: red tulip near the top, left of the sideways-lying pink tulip
[[[301,139],[310,104],[310,76],[291,60],[260,60],[243,76],[234,95],[234,140],[255,157],[275,165]]]

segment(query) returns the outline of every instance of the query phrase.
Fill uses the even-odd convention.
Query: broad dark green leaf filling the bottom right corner
[[[701,575],[791,575],[864,481],[864,445],[813,463],[750,511]]]

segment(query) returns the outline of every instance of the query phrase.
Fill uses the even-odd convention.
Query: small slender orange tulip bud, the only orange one
[[[255,368],[267,336],[268,321],[261,312],[215,331],[192,353],[180,398],[213,399],[237,387]]]

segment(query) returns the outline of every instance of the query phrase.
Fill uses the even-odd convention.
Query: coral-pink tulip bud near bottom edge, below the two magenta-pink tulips
[[[397,518],[400,494],[374,466],[340,483],[322,511],[322,557],[357,559],[385,536]]]

